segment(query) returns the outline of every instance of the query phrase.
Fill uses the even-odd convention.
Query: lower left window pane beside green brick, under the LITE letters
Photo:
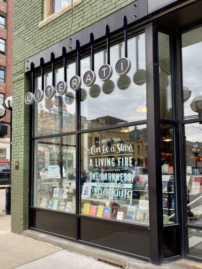
[[[75,213],[75,135],[35,140],[33,205]]]

